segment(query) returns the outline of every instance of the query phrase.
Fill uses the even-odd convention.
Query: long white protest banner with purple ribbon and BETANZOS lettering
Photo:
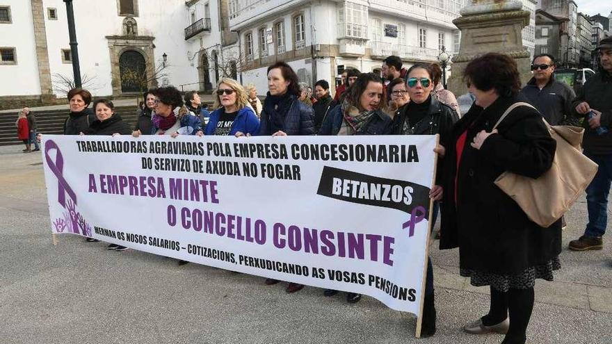
[[[51,228],[418,315],[436,140],[49,135]]]

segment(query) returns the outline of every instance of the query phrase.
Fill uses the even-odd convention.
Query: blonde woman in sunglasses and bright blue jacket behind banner
[[[234,79],[221,79],[204,135],[252,136],[259,132],[259,119],[248,106],[248,95]]]

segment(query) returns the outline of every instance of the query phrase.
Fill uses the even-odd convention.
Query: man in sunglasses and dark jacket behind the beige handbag
[[[578,125],[572,101],[576,97],[570,86],[556,81],[554,57],[541,54],[533,58],[533,78],[521,90],[550,125]]]

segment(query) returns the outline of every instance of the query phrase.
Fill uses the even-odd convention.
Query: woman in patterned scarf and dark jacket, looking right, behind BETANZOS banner
[[[391,117],[385,113],[387,99],[383,80],[373,73],[363,73],[348,88],[343,104],[331,110],[325,121],[328,135],[387,135],[391,133]],[[319,132],[319,135],[325,133]],[[323,295],[333,296],[338,290],[325,289]],[[359,302],[361,294],[346,293],[346,301]]]

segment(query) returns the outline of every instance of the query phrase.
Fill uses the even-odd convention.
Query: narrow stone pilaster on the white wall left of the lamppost
[[[38,60],[38,79],[40,79],[40,100],[43,104],[54,101],[49,68],[49,51],[47,49],[47,30],[45,29],[45,9],[42,0],[31,0],[34,22],[34,42],[36,60]]]

